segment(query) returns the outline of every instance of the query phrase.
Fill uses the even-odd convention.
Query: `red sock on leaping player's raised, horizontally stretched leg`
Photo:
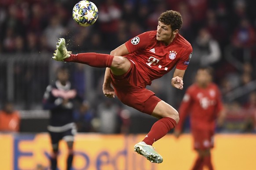
[[[70,54],[69,58],[66,58],[66,62],[76,62],[87,64],[91,67],[111,67],[112,60],[114,56],[109,54],[100,54],[100,53],[79,53],[79,54]]]

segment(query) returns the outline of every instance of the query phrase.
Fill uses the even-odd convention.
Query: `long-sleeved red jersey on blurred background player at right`
[[[221,94],[217,85],[211,83],[207,88],[191,85],[179,107],[179,123],[176,129],[181,130],[184,120],[190,113],[191,128],[214,130],[218,113],[223,109]]]

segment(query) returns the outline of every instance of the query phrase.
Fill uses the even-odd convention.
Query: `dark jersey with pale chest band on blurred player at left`
[[[63,104],[65,99],[68,102]],[[53,85],[48,85],[44,93],[43,108],[51,112],[50,126],[60,127],[73,122],[75,99],[82,101],[70,82],[67,82],[65,86],[61,85],[59,81],[56,81]]]

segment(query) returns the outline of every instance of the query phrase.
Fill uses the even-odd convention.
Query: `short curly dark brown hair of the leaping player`
[[[158,21],[163,22],[165,25],[171,25],[172,30],[180,29],[182,26],[182,17],[178,11],[165,11],[163,12]]]

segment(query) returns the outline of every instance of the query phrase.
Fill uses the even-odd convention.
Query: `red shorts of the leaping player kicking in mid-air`
[[[116,96],[127,106],[152,114],[157,103],[161,101],[154,92],[145,88],[148,82],[144,80],[132,62],[125,74],[121,76],[111,74],[111,77]]]

